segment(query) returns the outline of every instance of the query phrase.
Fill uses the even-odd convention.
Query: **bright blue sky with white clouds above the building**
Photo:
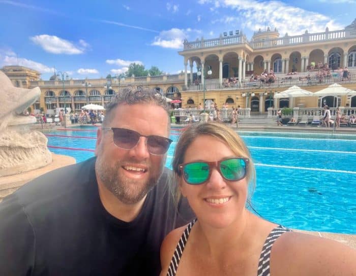
[[[280,36],[343,29],[356,0],[7,1],[0,0],[0,67],[23,65],[73,79],[125,72],[130,62],[175,74],[184,69],[183,40],[258,28]],[[188,67],[189,68],[189,67]]]

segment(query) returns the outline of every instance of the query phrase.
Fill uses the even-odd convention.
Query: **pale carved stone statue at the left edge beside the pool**
[[[24,116],[41,94],[39,87],[14,87],[0,71],[0,177],[43,167],[52,162],[46,136],[29,126],[34,116]]]

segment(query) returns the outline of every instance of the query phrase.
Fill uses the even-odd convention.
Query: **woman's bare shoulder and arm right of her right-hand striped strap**
[[[356,251],[338,241],[286,232],[271,252],[273,275],[351,275],[356,271]]]

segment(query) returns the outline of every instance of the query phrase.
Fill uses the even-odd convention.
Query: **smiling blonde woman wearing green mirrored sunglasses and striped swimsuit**
[[[206,150],[209,149],[209,150]],[[255,170],[232,129],[191,125],[176,145],[173,171],[196,214],[161,247],[161,275],[351,275],[356,251],[337,241],[291,232],[252,214]],[[273,245],[273,248],[271,249]]]

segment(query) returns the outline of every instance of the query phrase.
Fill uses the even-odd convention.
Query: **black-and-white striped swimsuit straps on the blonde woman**
[[[170,261],[167,276],[175,276],[175,273],[178,269],[179,261],[181,260],[184,251],[184,247],[187,244],[189,233],[195,222],[196,219],[188,224],[187,228],[184,230],[181,236],[181,239],[178,241],[172,260]],[[280,235],[282,235],[284,232],[289,232],[289,231],[291,230],[283,227],[282,225],[279,225],[270,232],[270,234],[268,235],[268,237],[264,242],[264,245],[262,247],[262,252],[259,257],[257,276],[270,275],[270,255],[271,255],[272,246]]]

